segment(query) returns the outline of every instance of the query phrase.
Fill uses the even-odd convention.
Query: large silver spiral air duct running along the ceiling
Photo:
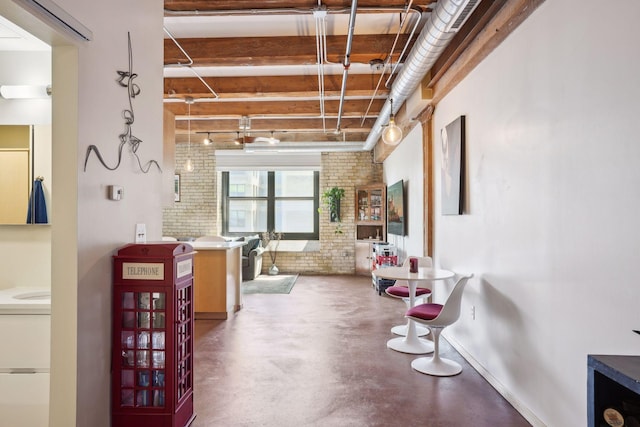
[[[438,1],[420,32],[418,40],[416,40],[411,52],[409,52],[402,70],[398,73],[398,77],[389,93],[389,98],[382,106],[378,119],[362,147],[363,150],[370,151],[373,149],[380,138],[382,127],[389,121],[391,113],[396,113],[409,95],[418,88],[424,76],[455,35],[455,32],[447,32],[447,25],[453,21],[454,17],[468,2],[469,0]],[[389,99],[395,101],[396,111],[391,111]]]

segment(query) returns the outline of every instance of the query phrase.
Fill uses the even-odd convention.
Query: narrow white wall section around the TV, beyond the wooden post
[[[407,256],[424,255],[422,126],[416,126],[404,137],[385,160],[383,169],[387,186],[404,181],[406,236],[387,235],[387,241],[398,248],[398,262],[402,263]]]

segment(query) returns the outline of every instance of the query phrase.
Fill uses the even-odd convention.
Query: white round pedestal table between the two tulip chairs
[[[417,273],[409,272],[409,266],[384,267],[375,271],[377,277],[392,280],[406,280],[409,283],[409,305],[414,306],[416,300],[416,288],[420,282],[434,282],[436,280],[450,279],[455,276],[453,271],[441,270],[437,268],[418,268]],[[433,342],[418,338],[416,324],[409,320],[407,323],[407,335],[404,337],[392,338],[387,341],[387,347],[409,354],[425,354],[433,352]]]

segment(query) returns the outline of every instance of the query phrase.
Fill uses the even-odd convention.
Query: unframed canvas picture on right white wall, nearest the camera
[[[460,116],[441,131],[442,139],[442,215],[462,215],[465,116]]]

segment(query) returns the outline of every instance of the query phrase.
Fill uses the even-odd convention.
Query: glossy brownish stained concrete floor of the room
[[[290,294],[243,298],[226,321],[195,322],[193,427],[530,425],[445,340],[460,375],[387,349],[405,306],[370,278],[300,276]]]

